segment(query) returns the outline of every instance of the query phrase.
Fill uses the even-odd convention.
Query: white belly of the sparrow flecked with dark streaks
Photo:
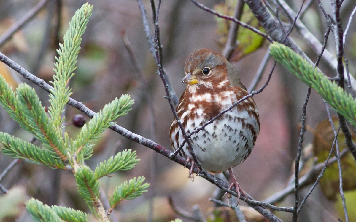
[[[243,162],[253,148],[252,134],[243,127],[243,121],[250,119],[246,111],[238,112],[236,107],[232,112],[227,112],[207,125],[197,134],[193,134],[190,139],[195,156],[199,159],[201,166],[208,171],[221,172],[234,167]],[[194,120],[194,125],[198,126],[199,118]],[[256,121],[250,123],[257,125]],[[189,129],[192,123],[187,124]],[[184,141],[183,136],[179,136],[179,144]],[[183,147],[187,156],[190,156],[188,146]]]

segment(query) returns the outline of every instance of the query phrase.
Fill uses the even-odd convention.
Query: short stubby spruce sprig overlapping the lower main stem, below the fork
[[[94,172],[88,166],[81,166],[74,174],[80,196],[90,207],[97,204],[100,183],[95,179]]]

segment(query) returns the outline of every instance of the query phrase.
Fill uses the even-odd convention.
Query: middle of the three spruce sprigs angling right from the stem
[[[107,161],[101,162],[95,168],[95,178],[100,179],[117,170],[132,169],[140,162],[140,159],[136,159],[136,157],[136,151],[132,152],[131,149],[118,152],[114,157],[110,157]]]

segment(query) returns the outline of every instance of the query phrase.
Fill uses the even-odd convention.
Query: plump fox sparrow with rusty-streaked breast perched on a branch
[[[213,50],[199,49],[190,54],[184,71],[186,76],[182,82],[187,83],[187,88],[180,97],[176,112],[187,134],[248,94],[235,67]],[[231,168],[250,155],[259,131],[256,103],[250,97],[191,135],[190,142],[202,168],[214,173],[229,170],[229,189],[235,186],[240,196],[245,192]],[[170,135],[176,150],[185,140],[176,119],[172,122]],[[180,155],[192,159],[187,143]]]

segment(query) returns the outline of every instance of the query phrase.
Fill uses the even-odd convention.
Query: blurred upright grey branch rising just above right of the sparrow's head
[[[244,9],[244,1],[238,0],[235,6],[234,18],[240,20],[243,9]],[[237,23],[231,22],[225,48],[222,53],[227,60],[230,59],[232,53],[236,49],[236,36],[238,31],[239,31],[239,26],[237,25]]]

